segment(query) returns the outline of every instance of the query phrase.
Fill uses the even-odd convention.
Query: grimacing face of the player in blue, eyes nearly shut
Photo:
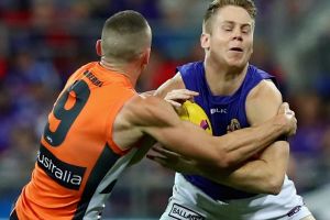
[[[232,67],[244,67],[253,52],[254,20],[240,7],[220,9],[212,20],[207,53]]]

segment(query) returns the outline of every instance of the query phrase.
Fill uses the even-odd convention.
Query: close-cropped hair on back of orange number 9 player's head
[[[151,47],[151,29],[141,13],[120,11],[105,22],[101,48],[106,59],[131,62],[147,47]]]

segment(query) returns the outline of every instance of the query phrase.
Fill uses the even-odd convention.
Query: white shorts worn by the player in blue
[[[229,201],[213,200],[180,174],[161,220],[300,220],[310,216],[293,182],[285,179],[280,194],[257,195]]]

